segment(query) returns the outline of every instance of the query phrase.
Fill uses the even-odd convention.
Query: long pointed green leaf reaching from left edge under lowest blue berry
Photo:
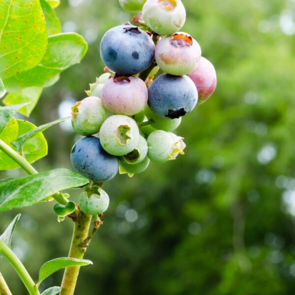
[[[0,211],[34,205],[60,190],[81,187],[89,180],[68,169],[14,178],[0,185]]]

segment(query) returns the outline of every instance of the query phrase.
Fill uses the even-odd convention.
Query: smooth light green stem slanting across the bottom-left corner
[[[12,250],[0,239],[0,253],[9,261],[13,266],[30,295],[40,295],[36,284],[30,277],[26,267],[22,262],[17,258],[17,256],[12,252]],[[1,293],[2,294],[2,293]],[[9,294],[9,293],[8,293]]]

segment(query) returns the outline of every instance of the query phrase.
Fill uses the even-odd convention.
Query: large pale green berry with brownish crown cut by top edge
[[[186,12],[180,0],[147,0],[143,7],[143,19],[160,35],[172,35],[185,23]]]

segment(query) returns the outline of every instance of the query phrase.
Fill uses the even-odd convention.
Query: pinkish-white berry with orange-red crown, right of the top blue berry
[[[196,68],[201,54],[201,47],[196,40],[187,33],[177,32],[158,42],[155,59],[163,72],[181,76]]]

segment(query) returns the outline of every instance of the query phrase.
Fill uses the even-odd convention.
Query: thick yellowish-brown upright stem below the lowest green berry
[[[70,258],[82,259],[87,249],[84,241],[88,237],[89,227],[91,223],[91,215],[79,212],[75,219],[74,232],[72,236],[71,247],[69,251]],[[60,295],[73,295],[79,275],[80,266],[66,267],[62,283]]]

